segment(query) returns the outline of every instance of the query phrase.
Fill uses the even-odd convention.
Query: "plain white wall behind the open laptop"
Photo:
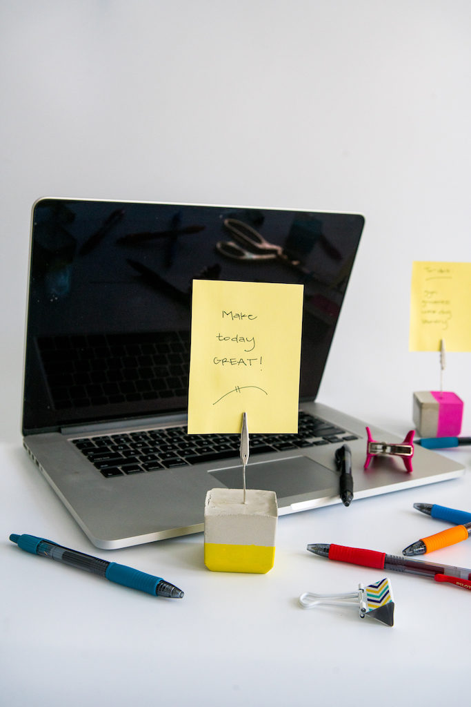
[[[467,0],[1,1],[1,433],[46,195],[361,212],[320,399],[366,416],[402,385],[410,416],[439,384],[407,350],[411,262],[471,259],[470,33]]]

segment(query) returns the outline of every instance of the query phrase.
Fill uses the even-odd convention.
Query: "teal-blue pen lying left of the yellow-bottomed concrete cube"
[[[62,547],[55,542],[34,535],[10,535],[11,542],[16,542],[18,547],[33,555],[42,555],[51,560],[63,562],[71,567],[76,567],[85,572],[91,572],[99,577],[105,577],[110,582],[124,585],[131,589],[138,589],[157,597],[172,597],[181,599],[184,592],[173,584],[166,582],[162,577],[154,577],[139,570],[134,570],[126,565],[108,562],[83,552]]]

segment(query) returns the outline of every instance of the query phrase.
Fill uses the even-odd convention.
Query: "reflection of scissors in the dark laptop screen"
[[[225,218],[223,221],[225,228],[229,230],[234,240],[220,240],[216,243],[217,250],[226,257],[234,260],[274,260],[280,259],[287,265],[297,269],[300,267],[299,260],[293,260],[280,245],[268,243],[258,230],[239,221],[237,218]]]

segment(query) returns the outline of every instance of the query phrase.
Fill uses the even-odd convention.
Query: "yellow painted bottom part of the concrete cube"
[[[226,545],[205,542],[205,566],[213,572],[265,574],[275,561],[275,548],[263,545]]]

